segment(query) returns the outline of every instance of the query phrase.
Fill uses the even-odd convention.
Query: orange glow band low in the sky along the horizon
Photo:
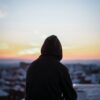
[[[19,46],[21,47],[21,46]],[[18,54],[19,50],[23,50],[26,47],[16,47],[15,49],[0,50],[0,59],[29,59],[34,60],[38,58],[39,53],[35,54]],[[73,49],[64,49],[63,50],[63,59],[100,59],[100,47],[90,46],[82,48],[73,48]]]

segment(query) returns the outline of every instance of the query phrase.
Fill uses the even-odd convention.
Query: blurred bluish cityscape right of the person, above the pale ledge
[[[96,64],[65,64],[73,83],[100,84],[100,65]]]

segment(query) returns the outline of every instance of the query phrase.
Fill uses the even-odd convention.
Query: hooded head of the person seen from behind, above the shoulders
[[[41,48],[42,55],[55,56],[58,60],[62,59],[62,46],[55,35],[46,38]]]

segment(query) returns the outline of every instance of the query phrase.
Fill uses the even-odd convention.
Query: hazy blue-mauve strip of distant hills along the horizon
[[[20,62],[31,63],[32,60],[25,59],[0,59],[0,67],[11,67],[11,66],[19,66]],[[100,65],[100,60],[62,60],[64,64],[97,64]]]

